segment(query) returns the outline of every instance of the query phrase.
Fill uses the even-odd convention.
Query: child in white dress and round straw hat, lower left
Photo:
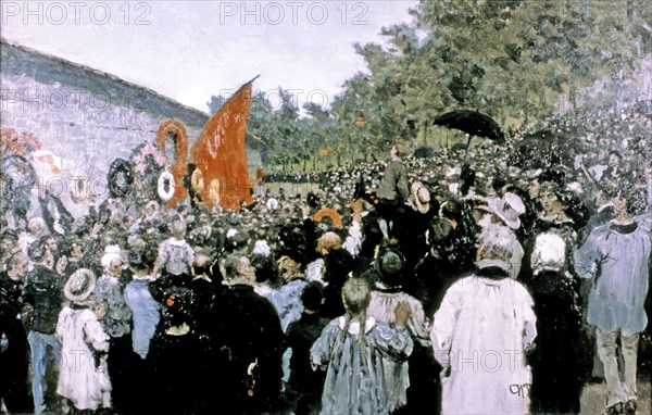
[[[57,323],[62,352],[57,393],[71,400],[80,411],[111,407],[106,367],[109,336],[91,310],[95,287],[96,277],[90,269],[74,272],[63,288],[70,303],[61,311]]]

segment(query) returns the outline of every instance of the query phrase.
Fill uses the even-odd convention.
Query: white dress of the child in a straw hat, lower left
[[[109,351],[109,336],[88,309],[64,307],[59,314],[57,336],[61,341],[61,370],[57,393],[78,410],[111,406],[111,380],[106,359],[93,356]],[[102,353],[105,356],[105,353]]]

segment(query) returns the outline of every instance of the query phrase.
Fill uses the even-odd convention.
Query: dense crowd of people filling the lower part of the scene
[[[113,191],[63,229],[5,214],[2,411],[578,414],[605,379],[604,414],[635,414],[644,111],[609,137],[548,122],[581,144],[569,164],[397,143],[240,211]]]

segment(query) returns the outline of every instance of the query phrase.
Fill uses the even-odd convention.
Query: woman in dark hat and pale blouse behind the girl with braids
[[[402,274],[405,269],[405,257],[401,251],[391,247],[383,249],[376,257],[375,269],[378,281],[376,281],[376,287],[372,291],[367,314],[378,322],[392,325],[396,323],[394,310],[397,305],[401,302],[406,303],[410,306],[410,318],[406,322],[408,329],[415,343],[415,351],[417,348],[423,348],[423,351],[428,351],[428,355],[431,354],[430,322],[424,313],[422,303],[414,297],[403,292],[401,287]],[[423,353],[423,355],[425,354]],[[414,353],[410,359],[412,360],[413,356]],[[394,413],[394,411],[408,404],[408,387],[411,386],[409,362],[396,362],[384,356],[383,368],[385,390],[387,391],[387,407],[390,413]],[[421,383],[414,385],[413,389],[414,387],[425,386],[423,382]]]

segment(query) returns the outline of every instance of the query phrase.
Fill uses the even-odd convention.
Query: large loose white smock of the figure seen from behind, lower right
[[[446,292],[430,339],[442,376],[442,414],[528,414],[525,350],[536,331],[532,299],[511,278],[471,276]]]

